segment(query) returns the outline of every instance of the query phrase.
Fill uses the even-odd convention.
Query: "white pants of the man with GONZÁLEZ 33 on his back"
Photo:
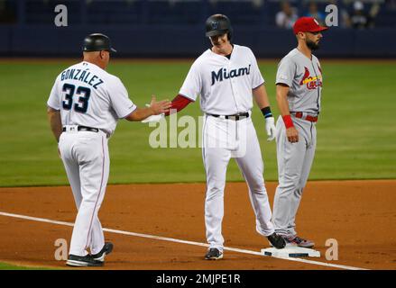
[[[105,197],[110,167],[106,134],[63,132],[59,148],[78,209],[69,254],[86,256],[87,248],[97,254],[105,245],[97,213]]]

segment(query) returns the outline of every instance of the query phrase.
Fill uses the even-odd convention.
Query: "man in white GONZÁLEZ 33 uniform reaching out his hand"
[[[47,102],[51,130],[78,208],[69,266],[103,266],[113,249],[112,243],[105,243],[97,213],[109,174],[107,140],[117,121],[141,121],[170,108],[169,101],[156,102],[155,97],[150,107],[136,107],[121,80],[106,72],[110,52],[115,49],[106,35],[88,35],[83,61],[57,76]]]

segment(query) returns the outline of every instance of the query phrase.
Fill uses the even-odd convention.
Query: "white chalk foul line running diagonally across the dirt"
[[[50,219],[44,219],[44,218],[38,218],[38,217],[31,217],[31,216],[25,216],[25,215],[13,214],[13,213],[7,213],[7,212],[3,212],[3,211],[0,211],[0,216],[19,218],[19,219],[23,219],[23,220],[33,220],[33,221],[39,221],[39,222],[45,222],[45,223],[51,223],[51,224],[69,226],[69,227],[74,226],[74,223],[69,223],[69,222],[64,222],[64,221],[59,221],[59,220],[50,220]],[[200,242],[194,242],[194,241],[188,241],[188,240],[181,240],[181,239],[177,239],[177,238],[168,238],[168,237],[161,237],[161,236],[155,236],[155,235],[149,235],[149,234],[135,233],[135,232],[118,230],[118,229],[104,228],[103,230],[106,232],[109,232],[109,233],[115,233],[115,234],[121,234],[121,235],[127,235],[127,236],[134,236],[134,237],[141,237],[141,238],[152,238],[152,239],[161,240],[161,241],[169,241],[169,242],[195,245],[195,246],[201,246],[201,247],[209,246],[207,243],[200,243]],[[224,249],[227,251],[233,251],[233,252],[237,252],[237,253],[244,253],[244,254],[250,254],[250,255],[264,257],[264,255],[261,252],[252,251],[252,250],[239,249],[239,248],[233,248],[233,247],[224,247]],[[368,270],[368,269],[360,268],[360,267],[336,265],[336,264],[312,261],[312,260],[302,259],[302,258],[294,258],[294,257],[274,257],[274,258],[281,259],[281,260],[295,261],[295,262],[300,262],[300,263],[307,263],[307,264],[317,265],[317,266],[327,266],[327,267],[333,267],[333,268],[338,268],[338,269],[345,269],[345,270]]]

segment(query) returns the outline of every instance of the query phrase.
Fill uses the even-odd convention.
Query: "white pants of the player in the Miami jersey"
[[[231,157],[235,157],[248,184],[257,232],[262,236],[271,235],[274,232],[272,212],[262,176],[262,153],[252,119],[234,121],[206,115],[202,135],[202,157],[207,174],[205,224],[210,247],[221,251],[224,247],[224,189]]]

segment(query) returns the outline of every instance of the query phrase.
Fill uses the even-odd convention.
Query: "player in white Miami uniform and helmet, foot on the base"
[[[223,257],[224,189],[231,157],[235,157],[248,184],[257,232],[274,247],[282,248],[285,242],[274,232],[271,221],[272,211],[262,176],[262,153],[251,118],[254,98],[265,117],[269,139],[275,138],[264,79],[252,50],[231,43],[233,30],[226,15],[210,16],[206,31],[212,47],[190,67],[170,110],[179,112],[200,95],[200,107],[205,115],[202,157],[207,175],[205,224],[209,249],[205,258]]]

